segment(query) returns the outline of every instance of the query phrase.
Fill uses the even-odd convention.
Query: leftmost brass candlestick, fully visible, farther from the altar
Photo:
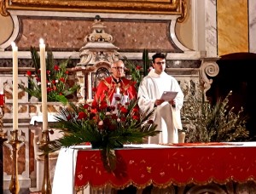
[[[7,141],[7,144],[12,146],[12,176],[9,185],[9,191],[12,194],[18,194],[20,191],[20,183],[18,179],[18,151],[20,146],[24,143],[24,140],[19,137],[19,130],[15,129],[10,132],[10,140]]]

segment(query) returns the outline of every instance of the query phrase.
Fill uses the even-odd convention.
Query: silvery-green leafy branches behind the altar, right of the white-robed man
[[[189,123],[187,142],[229,142],[248,138],[247,117],[242,116],[242,107],[237,113],[234,107],[229,107],[231,91],[214,106],[205,100],[200,87],[184,88],[183,93],[186,101],[182,116],[184,123]]]

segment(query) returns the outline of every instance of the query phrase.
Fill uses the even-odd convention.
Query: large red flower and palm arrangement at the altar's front
[[[57,151],[61,146],[83,145],[90,143],[92,148],[101,149],[102,162],[110,172],[116,165],[114,148],[124,144],[142,143],[143,137],[159,133],[150,120],[154,111],[139,111],[137,101],[122,104],[122,97],[116,97],[116,106],[108,100],[93,101],[76,106],[61,107],[55,119],[55,128],[60,128],[63,136],[49,141],[40,149],[45,153]]]

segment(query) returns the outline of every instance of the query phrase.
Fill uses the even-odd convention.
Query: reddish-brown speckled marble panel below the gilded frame
[[[21,18],[19,50],[38,47],[40,37],[53,50],[79,51],[84,37],[92,32],[91,20],[55,20]],[[119,51],[161,50],[174,52],[169,35],[169,21],[164,20],[104,20],[105,31],[114,38]]]

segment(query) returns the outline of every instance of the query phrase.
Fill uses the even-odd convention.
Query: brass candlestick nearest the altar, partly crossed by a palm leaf
[[[45,129],[42,131],[42,140],[39,142],[39,147],[49,143],[49,130]],[[42,194],[51,193],[51,185],[49,180],[49,154],[44,154],[44,178],[42,185]]]

